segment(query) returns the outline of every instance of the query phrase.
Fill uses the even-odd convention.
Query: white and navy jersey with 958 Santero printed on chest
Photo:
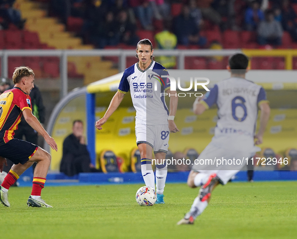
[[[136,109],[136,124],[167,125],[168,108],[165,96],[161,95],[170,88],[166,68],[152,61],[147,70],[139,68],[138,63],[127,68],[121,79],[118,91],[127,93],[130,89],[133,106]]]

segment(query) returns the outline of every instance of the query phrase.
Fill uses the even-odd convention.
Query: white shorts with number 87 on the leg
[[[136,144],[146,143],[150,145],[154,153],[168,151],[169,128],[168,125],[135,126]]]

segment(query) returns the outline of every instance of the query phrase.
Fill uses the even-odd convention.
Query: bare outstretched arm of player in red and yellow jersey
[[[38,134],[40,134],[46,143],[55,151],[58,151],[58,146],[55,142],[55,140],[49,136],[49,134],[45,131],[45,129],[42,127],[40,122],[37,120],[37,118],[32,114],[32,111],[30,109],[24,109],[23,115],[26,120],[26,122],[37,131]]]

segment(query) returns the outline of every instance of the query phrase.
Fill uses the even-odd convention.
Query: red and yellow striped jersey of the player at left
[[[0,146],[14,138],[24,109],[31,109],[31,98],[21,88],[14,87],[0,95]]]

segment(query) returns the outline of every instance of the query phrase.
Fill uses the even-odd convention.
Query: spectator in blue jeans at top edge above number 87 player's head
[[[129,0],[130,7],[133,8],[136,17],[139,19],[141,26],[145,30],[153,30],[153,8],[149,0]]]

